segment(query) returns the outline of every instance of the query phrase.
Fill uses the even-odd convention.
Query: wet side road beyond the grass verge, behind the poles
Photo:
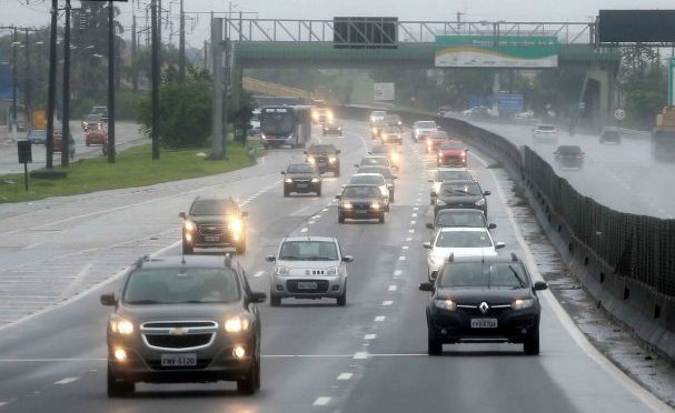
[[[149,142],[138,131],[138,124],[133,122],[117,122],[115,129],[116,148],[118,151]],[[100,145],[85,145],[85,132],[80,125],[80,121],[70,122],[70,133],[75,140],[75,161],[79,159],[93,158],[101,154]],[[24,139],[28,132],[17,132],[17,139]],[[28,164],[28,170],[44,168],[46,151],[44,145],[32,145],[32,163]],[[71,160],[71,162],[73,162]],[[61,153],[57,152],[53,155],[53,164],[61,164]],[[19,163],[17,154],[17,143],[10,140],[0,142],[0,174],[6,173],[23,173],[23,164]]]

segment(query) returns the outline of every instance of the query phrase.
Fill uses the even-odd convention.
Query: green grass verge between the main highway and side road
[[[146,187],[229,172],[251,164],[248,148],[230,142],[227,148],[227,161],[206,161],[198,155],[208,153],[208,148],[167,150],[161,152],[159,160],[152,161],[150,144],[135,147],[119,152],[116,163],[108,163],[103,157],[81,159],[70,165],[67,179],[30,178],[28,192],[23,189],[23,174],[0,175],[0,203]]]

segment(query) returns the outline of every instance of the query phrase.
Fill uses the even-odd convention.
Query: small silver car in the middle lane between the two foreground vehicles
[[[336,238],[289,236],[281,241],[271,269],[270,305],[281,299],[336,299],[337,305],[347,303],[347,262]]]

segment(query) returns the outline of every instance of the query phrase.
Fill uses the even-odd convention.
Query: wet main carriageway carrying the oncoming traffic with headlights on
[[[443,356],[427,356],[427,295],[417,284],[426,280],[433,155],[406,139],[387,222],[340,225],[332,195],[373,144],[367,124],[344,124],[345,138],[321,139],[341,149],[344,168],[340,179],[325,179],[322,198],[282,197],[279,171],[302,159],[300,150],[282,149],[221,175],[1,204],[0,413],[669,411],[599,356],[547,291],[539,356],[514,344],[446,345]],[[513,221],[512,183],[503,170],[487,169],[492,163],[470,152],[473,173],[493,192],[494,238],[507,245],[500,253],[517,252],[540,276]],[[249,212],[248,251],[238,259],[254,290],[269,292],[265,256],[284,236],[338,236],[356,259],[347,305],[260,304],[262,389],[254,396],[238,395],[232,383],[140,384],[133,396],[109,400],[110,310],[99,295],[116,291],[115,274],[133,258],[179,253],[178,212],[207,194],[236,197]]]

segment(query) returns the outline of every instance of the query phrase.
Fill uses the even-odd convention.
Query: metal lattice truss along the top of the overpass
[[[224,19],[226,37],[234,41],[332,42],[340,38],[334,20]],[[377,24],[376,19],[373,19]],[[350,22],[354,30],[361,28]],[[560,44],[595,44],[594,22],[508,21],[396,21],[397,42],[433,43],[436,36],[556,37]]]

